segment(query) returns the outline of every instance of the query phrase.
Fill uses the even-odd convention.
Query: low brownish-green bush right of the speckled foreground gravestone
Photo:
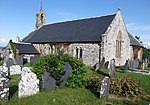
[[[141,88],[138,81],[126,78],[113,79],[111,80],[110,93],[124,97],[136,97],[141,93]]]

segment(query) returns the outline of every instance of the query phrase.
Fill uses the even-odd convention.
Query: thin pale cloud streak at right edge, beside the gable
[[[150,31],[150,25],[139,25],[136,23],[126,24],[128,30],[130,31]]]

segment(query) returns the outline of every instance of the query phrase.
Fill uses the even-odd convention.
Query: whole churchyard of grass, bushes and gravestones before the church
[[[46,64],[45,61],[49,63]],[[4,91],[6,92],[4,92],[5,97],[1,94],[0,105],[148,104],[150,102],[150,76],[131,72],[127,66],[125,64],[124,67],[116,68],[112,60],[110,69],[95,70],[95,68],[84,66],[81,61],[68,55],[47,55],[35,62],[32,67],[20,68],[17,65],[10,65],[8,74],[1,73],[1,77],[8,79],[5,79]],[[42,67],[46,69],[42,70]],[[149,71],[148,68],[149,66],[147,71]],[[116,80],[117,84],[123,81],[124,84],[113,85]],[[118,86],[124,90],[127,89],[125,91],[127,94],[122,94]]]

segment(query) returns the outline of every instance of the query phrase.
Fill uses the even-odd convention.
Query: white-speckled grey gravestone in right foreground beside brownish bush
[[[105,77],[101,82],[100,98],[109,96],[110,78]]]

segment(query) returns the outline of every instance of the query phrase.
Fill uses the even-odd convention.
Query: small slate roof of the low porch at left
[[[19,54],[39,54],[32,44],[14,43]]]

